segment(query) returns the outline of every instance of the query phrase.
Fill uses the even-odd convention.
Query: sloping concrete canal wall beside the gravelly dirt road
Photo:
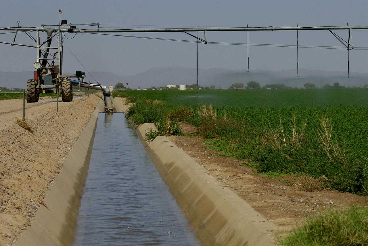
[[[44,206],[38,208],[31,226],[22,233],[15,245],[72,245],[74,243],[78,211],[88,174],[98,114],[104,112],[104,108],[105,105],[100,100],[43,201],[47,208]]]

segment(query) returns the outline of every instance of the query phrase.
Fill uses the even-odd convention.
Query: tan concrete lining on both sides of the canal
[[[117,100],[114,104],[118,105],[116,109],[127,109]],[[45,198],[47,208],[40,207],[36,221],[23,233],[17,245],[70,245],[73,242],[79,208],[78,202],[73,201],[81,199],[88,171],[84,164],[85,157],[93,143],[98,112],[99,106],[78,140],[79,145],[84,147],[74,146],[68,157],[70,164],[66,162],[61,171],[71,174],[71,182],[68,175],[59,174]],[[275,225],[272,222],[266,221],[236,194],[216,183],[213,177],[206,174],[206,170],[166,137],[145,142],[145,131],[151,127],[152,124],[139,126],[138,136],[202,245],[273,244]],[[72,185],[64,187],[68,182]]]

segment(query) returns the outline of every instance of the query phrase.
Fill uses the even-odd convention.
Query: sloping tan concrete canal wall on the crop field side
[[[140,139],[150,127],[137,128]],[[166,136],[142,143],[203,245],[274,245],[276,225],[221,186]]]

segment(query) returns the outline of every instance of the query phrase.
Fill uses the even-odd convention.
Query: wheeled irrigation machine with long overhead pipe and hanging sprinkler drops
[[[322,27],[216,27],[216,28],[153,28],[153,29],[79,29],[77,25],[90,25],[99,27],[99,23],[89,23],[89,24],[67,24],[67,20],[61,20],[61,10],[59,10],[60,18],[59,25],[41,25],[41,27],[21,27],[18,21],[18,27],[5,27],[0,28],[0,31],[14,31],[13,42],[0,42],[1,44],[17,45],[32,47],[37,49],[37,59],[34,63],[35,71],[34,78],[27,81],[27,102],[33,103],[38,101],[38,95],[41,92],[46,93],[59,93],[61,92],[63,101],[72,100],[72,86],[80,86],[85,88],[91,88],[96,90],[101,90],[103,92],[103,97],[105,101],[105,111],[112,112],[112,101],[110,98],[109,87],[103,86],[98,81],[96,83],[84,82],[85,73],[81,71],[76,71],[73,75],[63,74],[63,33],[92,33],[92,34],[104,34],[113,35],[105,33],[129,33],[129,32],[184,32],[191,37],[196,38],[197,42],[197,94],[198,94],[198,41],[204,44],[225,44],[219,42],[208,42],[206,38],[206,32],[223,32],[223,31],[246,31],[248,32],[248,73],[249,73],[249,31],[305,31],[305,30],[327,30],[331,32],[348,51],[347,59],[347,70],[349,76],[349,51],[353,49],[353,45],[350,43],[351,30],[368,30],[368,26],[322,26]],[[56,26],[57,28],[50,28],[51,26]],[[333,30],[347,30],[348,38],[347,41],[337,35]],[[29,32],[36,32],[36,39],[32,37]],[[36,45],[25,45],[25,44],[15,44],[15,38],[18,32],[25,32],[28,37],[36,42]],[[39,32],[46,32],[47,38],[45,41],[40,41]],[[196,35],[189,32],[196,32]],[[204,39],[198,37],[198,32],[204,32]],[[8,32],[9,33],[9,32]],[[1,34],[1,32],[0,32]],[[124,35],[113,35],[122,37],[134,37],[134,36],[124,36]],[[56,38],[57,45],[55,47],[51,46],[53,38]],[[136,37],[136,38],[148,38],[148,37]],[[160,38],[152,38],[160,39]],[[180,41],[176,39],[164,39]],[[189,41],[191,42],[191,41]],[[243,44],[247,45],[247,44]],[[298,51],[298,39],[296,45]],[[341,48],[341,47],[340,47]],[[54,51],[54,52],[53,52]],[[298,53],[297,53],[298,54]],[[55,64],[55,61],[57,64]],[[83,65],[82,65],[83,66]],[[88,70],[87,70],[88,72]],[[91,75],[92,76],[92,75]],[[299,65],[298,65],[298,55],[297,55],[297,76],[299,77]],[[93,77],[93,76],[92,76]],[[77,80],[72,80],[70,78],[77,78]]]

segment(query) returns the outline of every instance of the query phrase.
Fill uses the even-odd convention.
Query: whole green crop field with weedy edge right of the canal
[[[259,172],[306,174],[340,191],[368,194],[367,89],[199,93],[147,90],[113,95],[136,103],[128,112],[135,123],[188,122],[198,127],[208,148],[249,160]]]

